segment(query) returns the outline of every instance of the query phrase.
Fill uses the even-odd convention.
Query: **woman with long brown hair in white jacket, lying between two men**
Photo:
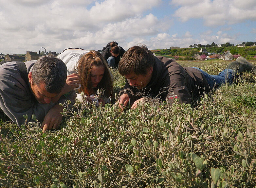
[[[78,92],[77,100],[82,102],[81,92],[87,95],[90,102],[90,95],[97,94],[98,89],[103,90],[103,97],[100,102],[110,102],[113,97],[113,80],[108,69],[106,60],[100,52],[83,50],[79,48],[68,48],[62,51],[57,58],[64,61],[68,74],[77,74],[80,79],[80,87],[75,88]]]

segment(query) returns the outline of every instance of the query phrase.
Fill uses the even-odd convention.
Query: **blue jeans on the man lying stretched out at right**
[[[198,69],[205,76],[210,86],[210,90],[212,90],[213,88],[218,88],[225,83],[231,84],[233,83],[234,77],[236,77],[235,71],[232,69],[225,69],[221,71],[218,75],[209,75],[207,72],[203,71],[202,69],[199,69],[197,67],[193,67],[193,68]]]

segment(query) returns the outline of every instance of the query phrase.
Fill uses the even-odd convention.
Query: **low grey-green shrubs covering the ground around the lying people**
[[[196,66],[196,65],[195,65]],[[201,68],[216,74],[226,65]],[[115,90],[124,77],[112,70]],[[76,112],[58,130],[1,113],[1,187],[255,187],[256,83],[243,74],[191,105]]]

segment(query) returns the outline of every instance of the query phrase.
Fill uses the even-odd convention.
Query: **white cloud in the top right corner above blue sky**
[[[256,1],[247,0],[172,0],[180,6],[174,13],[182,22],[189,19],[203,19],[206,26],[235,24],[244,20],[256,21]]]

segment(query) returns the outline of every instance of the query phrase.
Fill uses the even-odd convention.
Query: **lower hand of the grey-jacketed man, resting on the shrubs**
[[[62,121],[62,111],[63,107],[59,104],[56,104],[48,111],[41,126],[43,132],[45,132],[46,130],[50,130],[52,128],[57,129],[59,127]]]

